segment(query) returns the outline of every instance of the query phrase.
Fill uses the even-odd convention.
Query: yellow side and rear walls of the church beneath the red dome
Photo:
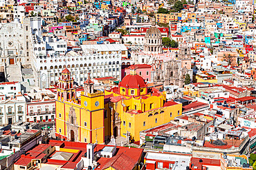
[[[156,127],[158,125],[162,125],[164,123],[170,122],[176,116],[181,115],[182,113],[182,104],[172,105],[169,107],[163,107],[163,98],[165,96],[150,96],[147,99],[136,99],[131,98],[129,100],[120,100],[116,105],[114,105],[114,110],[119,113],[120,120],[122,121],[120,127],[120,135],[125,137],[127,131],[130,132],[131,138],[134,138],[135,141],[140,140],[140,131],[145,129],[149,129],[152,127]],[[145,112],[141,114],[131,114],[124,111],[124,107],[122,103],[126,106],[129,106],[129,109],[135,109],[134,105],[136,105],[136,110],[144,111],[144,104],[146,106]],[[150,104],[152,103],[152,109],[150,109]],[[163,112],[161,112],[163,111]],[[179,115],[178,115],[179,111]],[[156,114],[158,112],[158,114]],[[172,117],[170,113],[172,112]],[[152,114],[152,116],[149,116]],[[157,119],[157,121],[156,121]],[[124,124],[125,121],[125,124]],[[145,126],[144,126],[145,122]],[[131,123],[131,127],[129,127],[129,123]],[[112,129],[113,131],[113,129]]]

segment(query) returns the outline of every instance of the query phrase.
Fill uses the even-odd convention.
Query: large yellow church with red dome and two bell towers
[[[76,97],[68,69],[57,85],[56,136],[64,140],[103,143],[111,136],[140,140],[140,131],[170,122],[182,113],[182,104],[167,101],[165,92],[147,87],[136,67],[118,87],[95,90],[90,74],[84,92]]]

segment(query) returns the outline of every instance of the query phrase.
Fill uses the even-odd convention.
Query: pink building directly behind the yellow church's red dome
[[[125,68],[125,72],[122,75],[122,78],[130,73],[130,68],[136,67],[136,74],[143,77],[143,79],[147,82],[151,81],[151,65],[141,64],[141,65],[130,65],[129,67]]]

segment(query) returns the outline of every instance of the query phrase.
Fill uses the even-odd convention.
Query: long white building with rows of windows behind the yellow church
[[[47,88],[55,85],[62,70],[67,67],[78,85],[83,85],[88,72],[92,78],[112,76],[120,80],[121,59],[128,52],[122,44],[81,45],[82,51],[71,51],[66,55],[51,54],[35,56],[37,85]]]

